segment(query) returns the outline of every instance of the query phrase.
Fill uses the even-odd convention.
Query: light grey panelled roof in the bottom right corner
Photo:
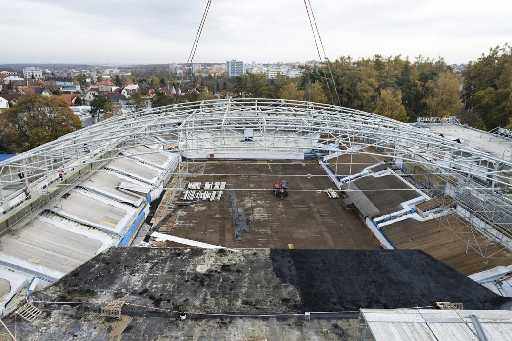
[[[389,341],[397,337],[403,341],[479,341],[471,315],[477,317],[489,341],[505,340],[512,335],[511,311],[362,309],[361,313],[375,341]]]

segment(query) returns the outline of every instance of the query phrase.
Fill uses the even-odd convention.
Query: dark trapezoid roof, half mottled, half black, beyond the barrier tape
[[[417,250],[112,247],[31,300],[125,302],[179,311],[304,313],[434,306],[510,309],[503,298]]]

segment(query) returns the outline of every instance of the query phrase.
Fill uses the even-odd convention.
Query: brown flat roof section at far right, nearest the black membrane
[[[491,269],[496,266],[508,266],[512,263],[512,254],[503,250],[494,243],[479,238],[482,249],[487,248],[488,255],[497,253],[487,259],[487,265],[483,265],[483,258],[474,249],[467,247],[466,243],[447,229],[444,224],[449,223],[455,231],[471,235],[466,228],[467,222],[460,217],[449,215],[442,218],[443,224],[438,219],[419,221],[413,218],[402,220],[390,225],[382,226],[382,232],[393,245],[399,249],[420,249],[440,261],[459,270],[464,275],[472,275],[475,272]],[[467,254],[466,254],[467,249]]]

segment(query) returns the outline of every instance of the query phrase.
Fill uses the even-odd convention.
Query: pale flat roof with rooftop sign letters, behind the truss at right
[[[448,140],[460,139],[462,145],[466,147],[493,154],[493,156],[503,158],[506,161],[512,161],[512,141],[498,135],[457,124],[429,124],[420,126],[420,128],[436,134],[442,133]]]

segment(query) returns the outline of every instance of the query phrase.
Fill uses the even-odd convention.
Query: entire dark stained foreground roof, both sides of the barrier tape
[[[421,251],[124,247],[99,254],[30,299],[128,305],[117,320],[100,317],[97,304],[34,303],[44,313],[31,324],[18,323],[23,339],[109,339],[113,331],[120,339],[347,339],[355,334],[344,334],[338,322],[351,315],[312,314],[308,325],[304,312],[357,315],[361,307],[409,308],[441,300],[468,309],[512,304]],[[186,311],[187,319],[181,322],[173,311]],[[298,315],[254,319],[205,312]],[[13,327],[13,317],[4,321]],[[323,335],[322,328],[330,333]]]

